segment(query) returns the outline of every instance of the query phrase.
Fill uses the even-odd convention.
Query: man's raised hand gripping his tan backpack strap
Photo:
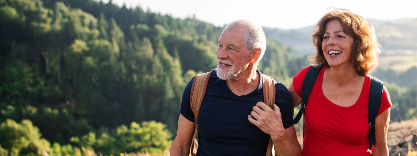
[[[272,139],[286,137],[278,106],[274,104],[274,110],[272,110],[264,102],[258,102],[252,110],[248,115],[249,122],[259,127],[264,133],[271,135]]]

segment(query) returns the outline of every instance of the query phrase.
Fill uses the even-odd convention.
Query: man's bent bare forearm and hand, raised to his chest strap
[[[301,156],[301,146],[297,140],[294,125],[284,129],[278,106],[275,105],[272,110],[264,102],[258,102],[253,107],[251,115],[248,115],[248,119],[249,122],[271,136],[276,155]]]

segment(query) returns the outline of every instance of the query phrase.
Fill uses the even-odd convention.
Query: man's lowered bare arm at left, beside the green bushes
[[[196,123],[180,114],[177,136],[171,144],[170,156],[189,156]]]

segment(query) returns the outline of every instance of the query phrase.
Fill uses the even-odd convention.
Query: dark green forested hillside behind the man
[[[0,153],[161,153],[221,31],[111,1],[0,0]],[[274,40],[265,56],[261,72],[287,85],[307,64]]]

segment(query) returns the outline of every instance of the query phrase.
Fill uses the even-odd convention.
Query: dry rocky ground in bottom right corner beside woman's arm
[[[416,142],[417,118],[389,124],[387,136],[389,156],[417,156]]]

